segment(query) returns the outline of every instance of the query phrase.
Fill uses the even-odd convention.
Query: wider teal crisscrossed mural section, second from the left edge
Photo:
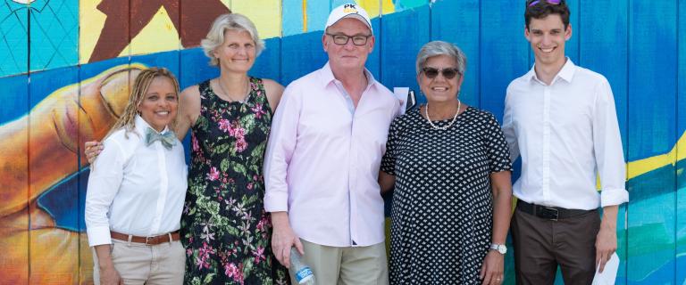
[[[38,0],[29,18],[31,70],[79,63],[79,0]]]

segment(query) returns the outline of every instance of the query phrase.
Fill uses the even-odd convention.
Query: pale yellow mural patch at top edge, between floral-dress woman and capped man
[[[280,0],[231,0],[230,8],[252,20],[260,38],[281,37]]]

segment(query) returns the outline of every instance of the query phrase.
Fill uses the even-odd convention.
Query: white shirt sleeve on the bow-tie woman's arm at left
[[[123,178],[124,153],[114,141],[104,142],[105,149],[90,167],[86,192],[86,229],[91,247],[112,243],[108,212]]]

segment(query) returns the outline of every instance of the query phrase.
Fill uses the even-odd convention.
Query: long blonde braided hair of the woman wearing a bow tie
[[[157,77],[167,77],[171,80],[171,84],[174,85],[174,93],[176,93],[177,101],[179,100],[179,81],[176,80],[174,74],[169,71],[169,69],[164,68],[149,68],[143,69],[136,77],[133,86],[131,88],[131,94],[129,96],[129,102],[124,108],[124,112],[121,117],[117,120],[114,126],[110,129],[110,132],[105,135],[105,138],[113,134],[117,130],[123,128],[126,130],[125,136],[128,138],[129,133],[133,132],[136,128],[136,115],[138,115],[138,106],[144,99],[146,99],[147,89],[153,83],[153,80]],[[176,123],[179,120],[180,111],[176,112],[176,117],[171,120],[171,129],[176,129]],[[140,134],[138,134],[140,135]]]

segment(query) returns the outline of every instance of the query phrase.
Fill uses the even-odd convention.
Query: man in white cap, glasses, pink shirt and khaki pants
[[[272,249],[286,266],[291,247],[304,253],[318,284],[387,284],[377,177],[399,102],[364,68],[374,47],[364,9],[330,12],[322,44],[329,61],[286,88],[272,120],[264,160]]]

